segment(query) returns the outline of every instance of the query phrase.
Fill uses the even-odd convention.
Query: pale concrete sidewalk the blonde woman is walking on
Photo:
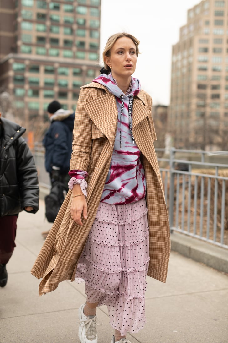
[[[0,343],[79,343],[84,284],[65,281],[39,297],[39,280],[30,274],[44,242],[41,232],[51,227],[44,218],[44,202],[35,215],[20,213],[17,223],[9,281],[0,288]],[[105,306],[97,316],[103,323],[98,343],[110,343],[113,330]],[[227,343],[227,274],[172,252],[167,283],[147,279],[146,317],[143,330],[128,334],[131,343]]]

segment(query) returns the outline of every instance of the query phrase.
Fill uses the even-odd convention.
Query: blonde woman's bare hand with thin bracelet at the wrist
[[[80,185],[74,185],[72,189],[73,195],[81,194]],[[87,219],[87,202],[84,195],[72,198],[70,215],[76,224],[82,226],[81,214],[83,212],[83,217]]]

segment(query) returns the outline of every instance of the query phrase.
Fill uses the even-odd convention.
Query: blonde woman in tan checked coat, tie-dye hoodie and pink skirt
[[[63,280],[85,281],[81,343],[97,342],[96,307],[103,304],[115,329],[111,342],[130,343],[126,332],[145,323],[146,275],[166,281],[170,229],[153,147],[152,99],[131,76],[138,45],[130,34],[111,36],[103,52],[106,74],[81,89],[72,191],[32,269],[43,277],[40,295]]]

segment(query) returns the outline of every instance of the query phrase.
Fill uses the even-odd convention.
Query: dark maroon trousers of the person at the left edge
[[[18,215],[0,217],[0,263],[6,264],[13,254]]]

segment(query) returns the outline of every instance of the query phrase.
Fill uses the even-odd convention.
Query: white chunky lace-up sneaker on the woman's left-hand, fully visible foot
[[[101,322],[97,316],[86,317],[84,315],[85,304],[82,304],[78,309],[79,329],[78,337],[81,343],[97,343],[97,325],[100,326]]]

